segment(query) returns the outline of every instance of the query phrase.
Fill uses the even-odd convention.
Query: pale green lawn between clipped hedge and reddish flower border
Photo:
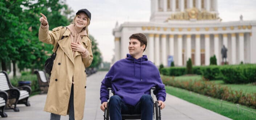
[[[187,81],[187,80],[202,80],[201,75],[192,75],[192,76],[175,76],[175,80]],[[231,88],[231,90],[240,91],[242,90],[243,93],[256,93],[256,86],[253,84],[225,84],[222,80],[211,80],[216,84],[221,84],[222,86],[227,86]]]

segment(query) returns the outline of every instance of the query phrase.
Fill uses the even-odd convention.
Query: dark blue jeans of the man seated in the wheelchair
[[[153,119],[153,99],[151,95],[143,95],[137,105],[125,104],[123,100],[114,95],[109,100],[110,120],[122,120],[121,114],[141,114],[141,120]]]

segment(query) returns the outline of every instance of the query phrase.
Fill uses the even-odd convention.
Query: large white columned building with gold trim
[[[151,0],[149,22],[125,22],[113,29],[114,61],[125,58],[129,37],[146,35],[144,54],[159,66],[167,66],[173,56],[175,66],[184,66],[188,58],[193,65],[210,65],[216,55],[222,62],[221,48],[228,49],[229,64],[256,63],[256,21],[221,22],[217,0]]]

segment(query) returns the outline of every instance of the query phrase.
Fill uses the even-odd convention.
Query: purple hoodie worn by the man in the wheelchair
[[[101,82],[101,104],[107,102],[107,88],[112,88],[115,95],[129,105],[135,106],[142,95],[149,94],[155,87],[157,100],[165,101],[166,92],[157,67],[147,60],[147,55],[139,59],[127,54],[127,58],[114,63]]]

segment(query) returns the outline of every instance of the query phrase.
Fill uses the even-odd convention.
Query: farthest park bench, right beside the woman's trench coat
[[[48,78],[47,78],[45,72],[41,71],[41,70],[39,70],[39,71],[35,70],[34,74],[37,75],[37,80],[38,80],[38,84],[39,84],[39,87],[40,87],[40,90],[41,90],[41,94],[47,93],[49,85],[48,85],[48,82],[47,82]]]

